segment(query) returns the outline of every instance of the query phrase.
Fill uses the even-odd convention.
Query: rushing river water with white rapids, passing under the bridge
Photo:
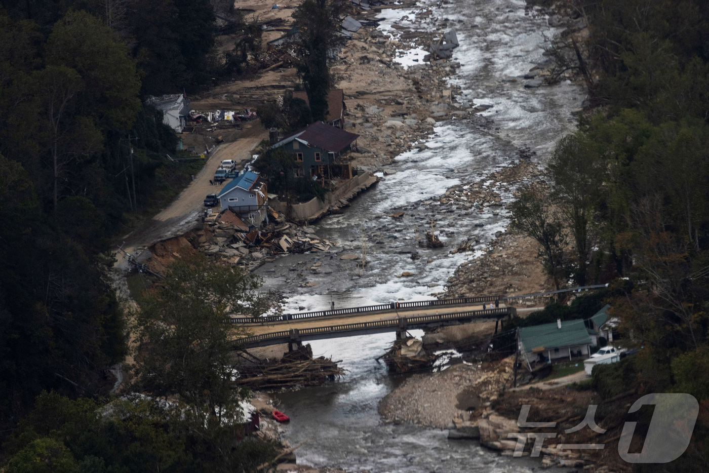
[[[483,113],[493,124],[481,127],[467,119],[439,123],[426,142],[428,150],[398,156],[391,166],[396,174],[360,196],[346,213],[318,223],[320,237],[340,243],[336,251],[286,256],[261,267],[267,288],[286,295],[288,310],[318,310],[331,302],[344,307],[429,299],[443,291],[455,267],[475,257],[474,252],[449,255],[449,250],[469,235],[481,242],[477,252],[485,250],[496,231],[505,228],[508,213],[503,208],[479,213],[444,207],[436,197],[456,184],[476,182],[508,166],[520,147],[529,146],[543,160],[554,142],[574,126],[571,111],[584,99],[579,87],[523,87],[525,72],[545,60],[543,35],[554,33],[545,17],[525,15],[524,1],[453,0],[430,6],[434,14],[424,21],[415,19],[415,10],[382,11],[387,20],[381,29],[396,34],[392,23],[440,29],[447,18],[446,29],[455,28],[461,44],[454,60],[462,67],[450,79],[462,88],[457,100],[493,105]],[[418,10],[427,8],[422,2]],[[413,64],[417,54],[402,53],[400,62]],[[509,201],[512,187],[488,185],[503,202]],[[395,211],[406,215],[376,218]],[[418,249],[414,228],[420,235],[431,218],[446,247]],[[369,265],[358,271],[356,263],[340,256],[361,252],[363,238]],[[419,251],[418,260],[411,260],[413,250]],[[311,274],[308,267],[318,261],[320,273]],[[404,271],[414,276],[397,277]],[[301,287],[308,282],[319,284]],[[341,382],[279,396],[281,407],[293,419],[286,438],[295,445],[315,435],[298,450],[299,462],[371,472],[526,472],[539,467],[538,462],[499,457],[474,442],[449,441],[445,431],[382,424],[376,404],[401,378],[389,376],[374,358],[392,340],[393,334],[385,334],[312,343],[313,353],[343,360],[350,372]]]

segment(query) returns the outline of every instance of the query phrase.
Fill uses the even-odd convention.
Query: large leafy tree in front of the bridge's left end
[[[255,275],[202,256],[175,262],[160,287],[147,292],[137,316],[135,386],[155,396],[177,396],[203,422],[220,422],[235,412],[245,391],[235,386],[231,360],[239,329],[227,316],[263,313],[259,286]]]

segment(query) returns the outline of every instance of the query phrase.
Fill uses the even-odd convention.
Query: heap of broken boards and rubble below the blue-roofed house
[[[230,210],[205,218],[203,230],[197,233],[200,249],[205,255],[223,257],[231,264],[257,265],[283,253],[328,251],[335,246],[329,240],[316,238],[309,228],[285,223],[270,209],[269,213],[277,223],[260,229]]]

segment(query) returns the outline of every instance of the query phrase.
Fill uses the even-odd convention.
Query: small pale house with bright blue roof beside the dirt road
[[[254,226],[267,220],[266,183],[259,180],[259,174],[246,171],[228,182],[217,194],[222,210],[229,208]]]

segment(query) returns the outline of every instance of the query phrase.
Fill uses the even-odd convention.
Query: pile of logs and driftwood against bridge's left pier
[[[280,360],[259,360],[254,356],[240,365],[239,384],[251,389],[274,390],[293,386],[316,386],[345,374],[332,358],[313,358],[310,344],[285,352]]]

